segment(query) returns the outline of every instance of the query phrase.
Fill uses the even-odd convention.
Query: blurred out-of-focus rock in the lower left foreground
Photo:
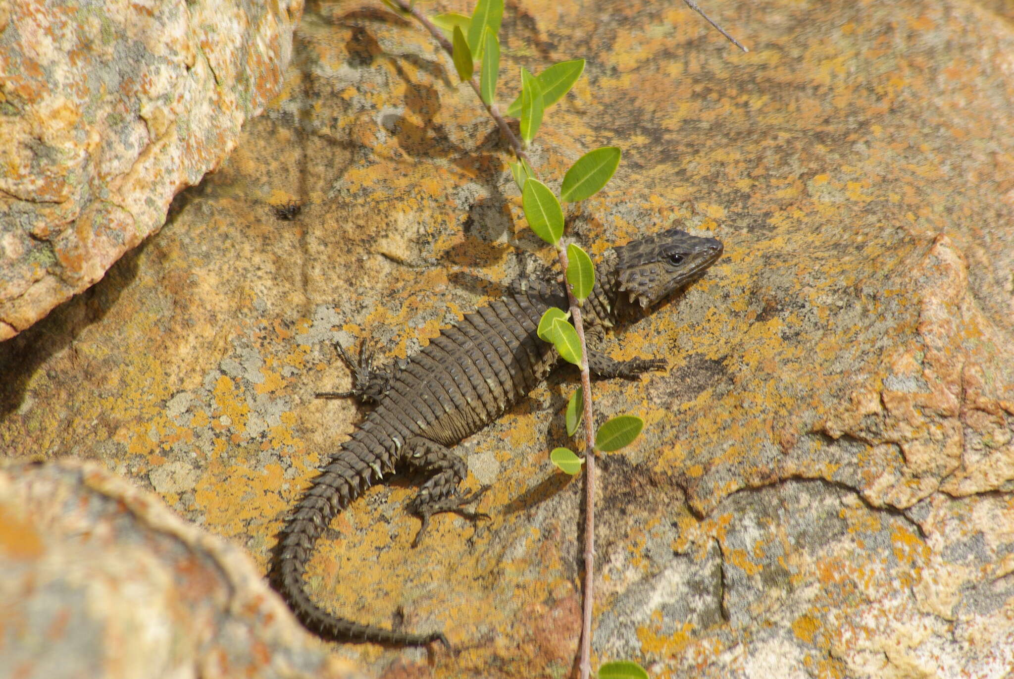
[[[93,463],[0,467],[0,570],[7,676],[362,676],[241,549]]]

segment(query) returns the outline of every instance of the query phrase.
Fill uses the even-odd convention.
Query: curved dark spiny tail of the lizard
[[[351,444],[352,442],[347,442]],[[310,631],[336,641],[374,641],[396,646],[425,646],[447,639],[441,632],[410,634],[365,625],[329,613],[306,593],[303,573],[317,538],[331,520],[359,497],[380,476],[379,465],[368,464],[347,447],[336,453],[296,505],[278,546],[272,572],[275,589]]]

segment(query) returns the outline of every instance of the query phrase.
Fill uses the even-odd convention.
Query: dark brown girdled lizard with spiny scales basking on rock
[[[675,228],[606,251],[596,267],[595,287],[582,307],[591,335],[646,314],[699,278],[721,255],[719,241]],[[338,617],[310,600],[303,572],[314,543],[338,512],[395,471],[428,477],[409,503],[409,510],[423,520],[420,534],[433,514],[478,516],[461,507],[483,491],[466,495],[458,490],[467,468],[448,447],[499,417],[541,382],[559,359],[553,345],[536,336],[535,328],[550,307],[569,309],[566,290],[562,284],[541,280],[525,283],[515,283],[503,298],[466,314],[401,369],[373,370],[361,354],[360,364],[353,366],[352,392],[322,394],[357,396],[376,406],[330,456],[279,542],[273,583],[313,632],[341,641],[446,643],[439,631],[413,634]],[[588,363],[592,372],[605,378],[634,378],[665,367],[664,359],[617,361],[591,348]]]

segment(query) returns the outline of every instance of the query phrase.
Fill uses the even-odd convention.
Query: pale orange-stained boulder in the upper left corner
[[[0,6],[0,341],[165,222],[278,93],[302,0]]]

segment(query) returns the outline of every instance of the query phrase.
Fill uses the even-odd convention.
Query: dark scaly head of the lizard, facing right
[[[722,243],[670,228],[615,249],[617,290],[648,309],[700,278],[722,256]]]

